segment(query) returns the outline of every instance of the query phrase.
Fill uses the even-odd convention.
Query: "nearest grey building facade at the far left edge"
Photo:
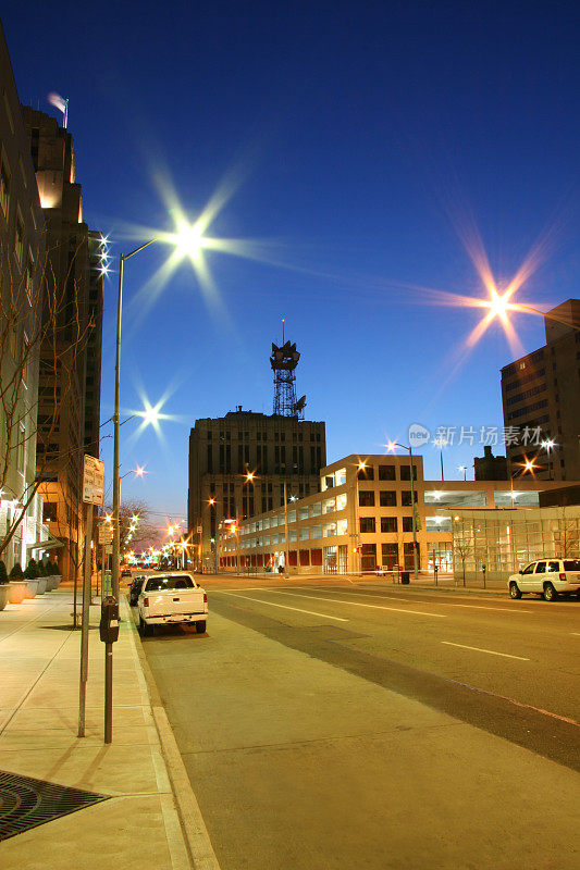
[[[45,220],[0,25],[0,559],[38,558],[47,538],[36,490]]]

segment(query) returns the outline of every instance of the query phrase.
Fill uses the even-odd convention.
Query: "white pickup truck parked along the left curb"
[[[149,574],[137,599],[139,631],[149,634],[155,625],[195,622],[196,631],[206,631],[208,596],[194,575],[186,571]]]

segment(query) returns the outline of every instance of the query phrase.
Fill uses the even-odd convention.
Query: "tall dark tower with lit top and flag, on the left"
[[[45,314],[54,330],[41,348],[37,474],[63,576],[78,574],[84,547],[84,453],[98,456],[102,274],[99,234],[83,219],[71,134],[45,112],[24,107],[29,148],[46,221]]]

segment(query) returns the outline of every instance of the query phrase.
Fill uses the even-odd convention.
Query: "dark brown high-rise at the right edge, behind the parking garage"
[[[568,299],[544,320],[546,344],[502,369],[504,426],[514,433],[508,474],[535,459],[541,480],[580,480],[580,300]]]

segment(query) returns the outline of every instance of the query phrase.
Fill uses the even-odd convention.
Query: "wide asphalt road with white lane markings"
[[[578,866],[580,601],[205,585],[144,647],[222,870]]]

